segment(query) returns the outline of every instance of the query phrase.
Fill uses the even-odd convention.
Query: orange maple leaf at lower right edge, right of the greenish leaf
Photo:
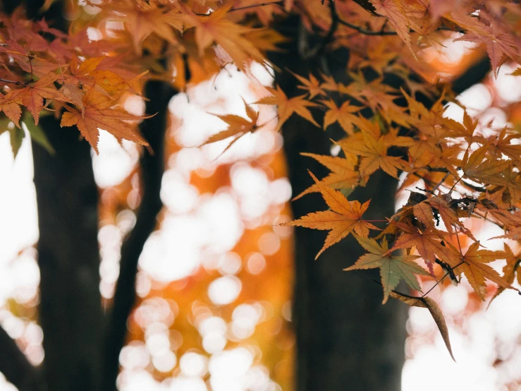
[[[486,294],[485,279],[495,282],[500,287],[515,289],[496,270],[487,265],[496,259],[506,258],[507,253],[505,251],[478,250],[479,246],[479,242],[472,243],[465,255],[461,255],[460,264],[449,263],[453,267],[454,273],[456,275],[464,273],[472,289],[483,301]]]

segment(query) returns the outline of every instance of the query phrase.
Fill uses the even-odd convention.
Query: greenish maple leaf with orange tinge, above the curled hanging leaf
[[[407,285],[412,289],[422,291],[415,275],[429,275],[429,273],[417,263],[412,262],[419,258],[417,255],[389,255],[386,239],[382,239],[381,244],[379,244],[374,239],[354,236],[360,246],[369,253],[362,255],[355,265],[344,270],[364,270],[379,267],[381,284],[384,287],[384,301],[382,303],[386,303],[389,294],[398,286],[401,279],[407,282]]]

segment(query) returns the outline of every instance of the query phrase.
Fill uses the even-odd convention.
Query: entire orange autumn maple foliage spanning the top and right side
[[[329,231],[320,253],[355,236],[367,253],[346,270],[378,268],[384,303],[392,296],[427,306],[447,343],[443,315],[434,301],[421,296],[418,275],[467,279],[483,300],[487,282],[497,285],[496,295],[515,289],[511,284],[520,253],[507,244],[504,251],[487,249],[474,237],[472,222],[489,220],[503,229],[501,237],[521,239],[520,129],[481,126],[466,111],[461,123],[444,116],[446,103],[454,100],[450,80],[433,71],[427,59],[451,42],[472,42],[474,52],[486,50],[494,76],[508,62],[517,67],[513,75],[521,83],[517,1],[73,3],[67,9],[73,19],[68,32],[46,20],[27,20],[21,9],[0,16],[0,132],[11,133],[15,153],[24,135],[22,122],[35,141],[51,148],[37,127],[42,115],[60,118],[70,131],[77,128],[96,152],[99,129],[146,146],[135,128],[146,116],[125,111],[125,98],[140,95],[150,79],[183,90],[230,64],[255,78],[251,65],[273,69],[266,54],[286,40],[276,26],[299,16],[305,34],[315,37],[312,47],[301,48],[309,58],[349,49],[348,82],[326,72],[294,73],[302,95],[291,97],[277,85],[266,85],[264,97],[244,102],[245,116],[219,115],[228,127],[207,143],[228,140],[226,151],[238,138],[269,124],[259,122],[259,105],[276,105],[277,130],[290,116],[307,120],[302,132],[324,132],[338,124],[343,136],[331,141],[336,155],[302,151],[331,173],[324,178],[310,173],[312,185],[297,198],[319,192],[328,209],[287,224]],[[401,88],[386,83],[389,75],[400,80]],[[395,215],[368,221],[364,212],[371,203],[350,199],[350,194],[378,170],[400,179],[401,188],[416,186],[417,191]],[[463,236],[470,243],[466,249]],[[501,275],[491,263],[505,259]],[[420,296],[395,291],[400,280]]]

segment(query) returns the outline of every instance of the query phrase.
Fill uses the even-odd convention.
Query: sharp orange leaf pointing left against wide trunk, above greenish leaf
[[[360,236],[367,236],[369,235],[369,229],[378,229],[373,224],[362,219],[362,215],[369,207],[369,201],[363,204],[360,204],[358,201],[348,201],[340,191],[324,186],[312,172],[309,170],[308,172],[319,187],[322,197],[324,197],[326,204],[331,210],[309,213],[300,217],[300,219],[281,225],[330,230],[324,247],[321,248],[315,259],[319,258],[319,255],[326,248],[338,243],[338,241],[341,241],[341,239],[353,231]]]

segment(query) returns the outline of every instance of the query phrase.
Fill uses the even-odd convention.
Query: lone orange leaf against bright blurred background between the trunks
[[[231,142],[226,146],[226,148],[224,148],[223,152],[221,152],[222,155],[239,138],[241,138],[247,133],[254,133],[259,128],[262,128],[262,126],[257,126],[257,119],[259,119],[259,113],[256,112],[255,109],[253,109],[249,104],[247,104],[245,100],[243,100],[243,102],[248,118],[245,119],[244,117],[235,114],[212,114],[221,119],[222,121],[226,122],[226,124],[228,124],[228,128],[226,128],[226,130],[224,131],[214,134],[214,136],[211,136],[202,145],[216,143],[216,141],[221,141],[225,140],[226,138],[233,137],[233,140],[231,140]]]

